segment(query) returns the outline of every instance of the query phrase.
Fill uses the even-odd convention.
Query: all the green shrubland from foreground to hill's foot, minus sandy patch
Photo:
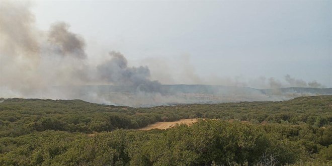
[[[153,108],[7,99],[0,165],[330,165],[331,110],[332,96]],[[217,120],[125,130],[183,118]]]

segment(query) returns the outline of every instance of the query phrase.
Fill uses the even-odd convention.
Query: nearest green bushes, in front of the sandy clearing
[[[223,120],[94,136],[44,131],[0,138],[0,165],[330,165],[331,133]]]

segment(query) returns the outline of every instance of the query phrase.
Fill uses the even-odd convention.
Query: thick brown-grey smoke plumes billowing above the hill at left
[[[1,95],[40,97],[52,86],[91,84],[134,86],[156,92],[158,81],[150,81],[147,66],[128,67],[119,52],[102,64],[88,65],[86,43],[69,25],[57,22],[46,32],[34,25],[29,3],[2,2]],[[10,94],[10,95],[9,95]]]

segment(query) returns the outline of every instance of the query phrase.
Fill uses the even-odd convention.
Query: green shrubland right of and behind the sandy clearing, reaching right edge
[[[146,108],[144,112],[164,110],[181,118],[237,119],[258,123],[309,124],[321,127],[332,122],[332,96],[299,97],[282,102],[238,102],[192,104]]]

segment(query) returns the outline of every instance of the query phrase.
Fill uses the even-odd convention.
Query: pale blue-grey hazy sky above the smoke
[[[41,30],[68,23],[90,61],[120,51],[163,84],[289,74],[332,87],[331,1],[38,1],[31,11]]]

